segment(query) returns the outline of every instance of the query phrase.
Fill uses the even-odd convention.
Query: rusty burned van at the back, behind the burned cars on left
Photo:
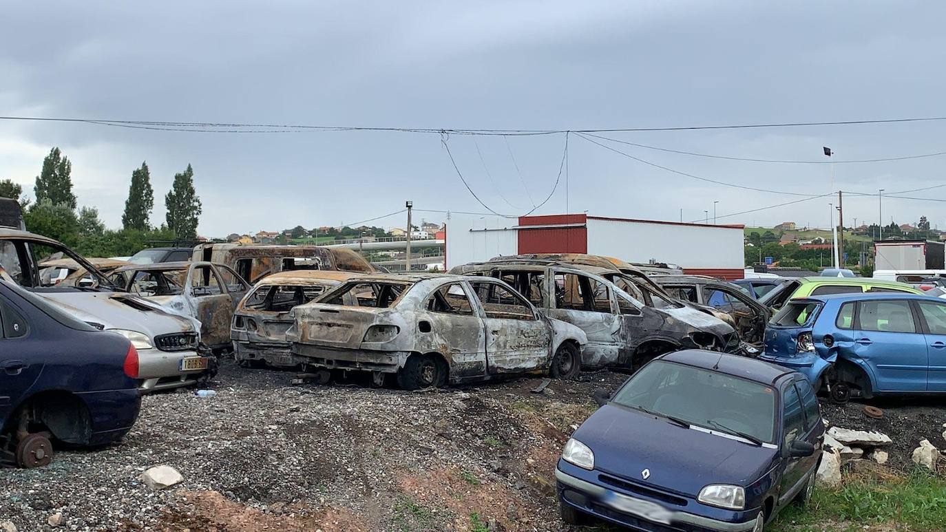
[[[352,249],[319,246],[201,244],[194,248],[191,260],[229,266],[251,284],[271,273],[296,269],[331,269],[357,273],[377,271],[375,266]]]

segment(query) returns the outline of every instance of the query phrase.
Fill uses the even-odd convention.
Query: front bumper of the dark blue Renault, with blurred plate
[[[743,532],[751,530],[755,524],[754,515],[752,518],[745,517],[752,515],[751,511],[729,512],[736,516],[743,516],[742,520],[730,522],[691,512],[672,510],[652,501],[604,488],[557,468],[555,480],[561,504],[573,506],[599,519],[618,523],[632,530]],[[755,513],[758,513],[758,510]]]

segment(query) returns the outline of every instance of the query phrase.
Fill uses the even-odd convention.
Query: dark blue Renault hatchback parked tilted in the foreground
[[[562,519],[634,530],[762,530],[815,486],[824,425],[797,371],[687,350],[639,369],[571,436]]]

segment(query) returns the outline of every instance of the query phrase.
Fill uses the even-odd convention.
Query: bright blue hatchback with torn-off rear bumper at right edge
[[[791,300],[760,356],[805,374],[832,399],[946,392],[946,301],[894,293]]]

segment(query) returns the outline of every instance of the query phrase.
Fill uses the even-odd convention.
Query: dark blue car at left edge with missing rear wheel
[[[0,281],[0,467],[40,467],[52,442],[111,443],[138,417],[138,353]]]

